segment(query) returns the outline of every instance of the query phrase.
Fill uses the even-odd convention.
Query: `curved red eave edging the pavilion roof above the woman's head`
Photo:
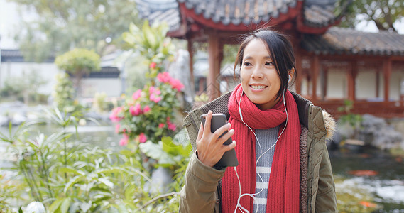
[[[241,22],[239,25],[234,25],[234,23],[225,25],[220,21],[214,22],[212,21],[212,18],[204,18],[202,13],[197,15],[194,9],[187,9],[185,3],[180,3],[179,6],[182,18],[192,18],[193,21],[200,23],[203,26],[207,26],[209,28],[217,29],[220,31],[251,31],[251,29],[256,29],[263,26],[274,26],[279,23],[295,19],[302,11],[303,2],[297,1],[295,7],[289,7],[287,13],[280,13],[277,18],[270,18],[270,20],[266,22],[260,21],[259,23],[251,23],[248,26],[246,26],[243,22]]]

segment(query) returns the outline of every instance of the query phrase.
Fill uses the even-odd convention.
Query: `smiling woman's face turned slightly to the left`
[[[240,76],[244,93],[259,109],[271,109],[278,102],[275,99],[280,77],[261,39],[253,39],[246,45]]]

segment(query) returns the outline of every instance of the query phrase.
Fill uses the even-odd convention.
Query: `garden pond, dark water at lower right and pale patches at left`
[[[1,133],[8,128],[0,127]],[[75,128],[67,128],[75,136]],[[78,136],[84,143],[94,146],[121,149],[121,136],[114,126],[79,126]],[[38,132],[55,132],[55,126],[43,125]],[[0,144],[0,153],[7,143]],[[384,151],[366,148],[356,152],[346,149],[329,151],[334,173],[339,212],[403,212],[404,213],[404,160]],[[11,165],[10,157],[0,155],[0,167]],[[6,173],[6,170],[0,170]],[[12,174],[12,173],[9,173]]]

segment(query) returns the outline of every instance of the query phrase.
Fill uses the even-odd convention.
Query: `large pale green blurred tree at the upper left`
[[[34,11],[38,18],[25,21],[16,32],[24,56],[41,61],[72,48],[108,53],[121,43],[129,23],[140,23],[134,0],[9,0]]]

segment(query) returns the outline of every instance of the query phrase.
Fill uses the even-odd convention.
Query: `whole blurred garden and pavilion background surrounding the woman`
[[[403,0],[0,0],[0,212],[177,212],[185,112],[264,26],[337,120],[339,212],[404,212]]]

